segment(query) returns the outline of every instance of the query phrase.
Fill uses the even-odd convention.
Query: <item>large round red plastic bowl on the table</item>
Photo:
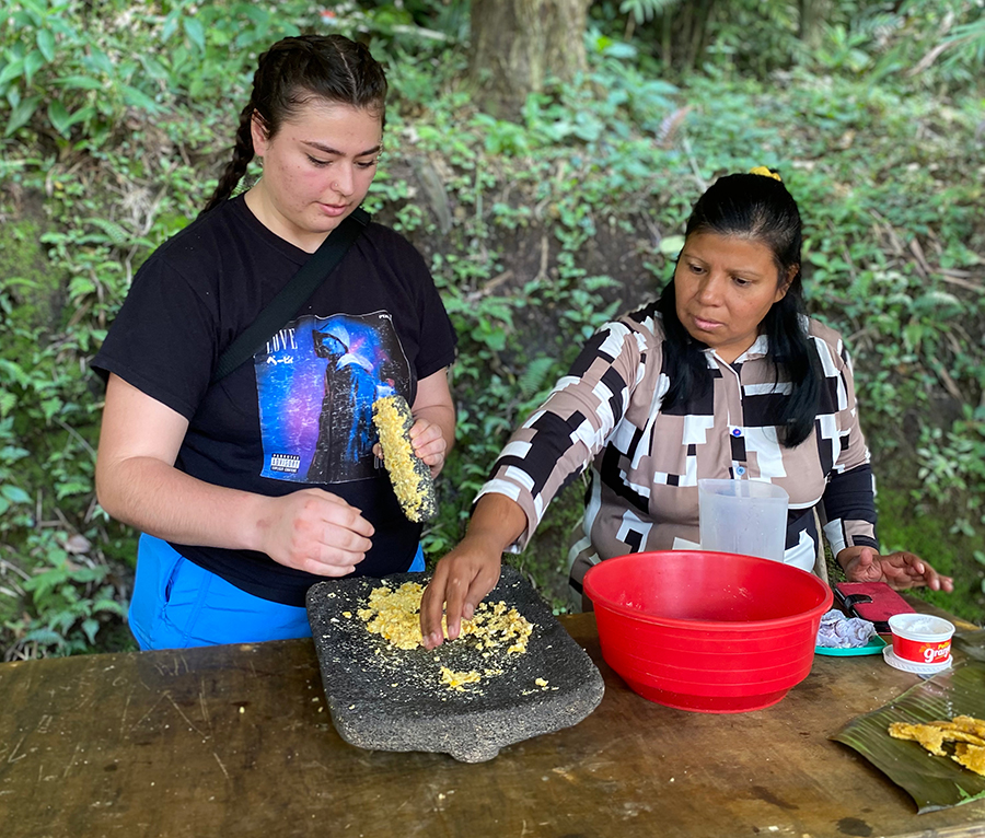
[[[699,550],[607,559],[584,592],[602,656],[633,690],[706,713],[769,707],[803,680],[833,598],[799,568]]]

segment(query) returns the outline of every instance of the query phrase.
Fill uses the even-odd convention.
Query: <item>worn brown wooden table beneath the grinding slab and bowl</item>
[[[309,640],[0,664],[0,836],[985,836],[985,801],[917,815],[828,741],[917,683],[816,657],[778,705],[710,715],[606,692],[580,724],[467,765],[355,748]]]

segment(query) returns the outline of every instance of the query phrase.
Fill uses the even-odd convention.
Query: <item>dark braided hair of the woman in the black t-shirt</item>
[[[202,212],[232,195],[253,160],[256,118],[273,138],[312,100],[364,108],[385,117],[386,75],[369,49],[343,35],[300,35],[278,40],[257,61],[253,93],[240,113],[232,159]]]

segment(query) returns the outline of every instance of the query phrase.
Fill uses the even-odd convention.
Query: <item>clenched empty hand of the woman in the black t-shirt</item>
[[[348,575],[372,547],[373,525],[356,507],[322,489],[266,498],[256,529],[256,549],[320,577]]]

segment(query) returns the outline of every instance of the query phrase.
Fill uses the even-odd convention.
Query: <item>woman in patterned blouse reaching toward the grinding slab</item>
[[[699,478],[763,480],[789,498],[786,563],[824,535],[850,581],[951,591],[911,552],[880,555],[874,482],[841,336],[804,314],[801,221],[775,172],[715,183],[697,201],[660,299],[605,324],[517,430],[465,537],[421,604],[425,644],[457,637],[530,540],[551,500],[590,469],[571,585],[592,565],[698,546]]]

